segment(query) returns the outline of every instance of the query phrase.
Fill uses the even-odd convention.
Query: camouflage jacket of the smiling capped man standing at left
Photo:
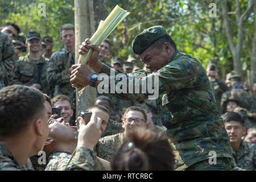
[[[46,68],[48,60],[40,56],[40,59],[30,59],[29,55],[19,57],[15,63],[13,84],[32,86],[40,84],[41,91],[48,94],[49,84],[46,80]]]

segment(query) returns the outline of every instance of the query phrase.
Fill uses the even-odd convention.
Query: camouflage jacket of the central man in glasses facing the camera
[[[123,133],[110,135],[101,138],[96,145],[97,155],[109,162],[112,161],[113,155],[119,150],[123,143]]]

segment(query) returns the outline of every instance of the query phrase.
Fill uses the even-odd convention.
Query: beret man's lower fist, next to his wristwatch
[[[90,70],[83,64],[72,65],[72,71],[70,76],[70,83],[81,86],[89,85]]]

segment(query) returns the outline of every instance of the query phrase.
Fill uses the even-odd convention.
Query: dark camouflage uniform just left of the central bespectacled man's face
[[[123,131],[124,129],[122,127],[121,122],[117,122],[113,119],[109,119],[108,126],[106,127],[104,133],[101,135],[101,138],[109,135],[123,133]]]

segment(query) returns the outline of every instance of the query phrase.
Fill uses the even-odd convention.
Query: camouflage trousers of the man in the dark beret
[[[209,164],[207,159],[189,166],[185,171],[232,171],[232,168],[232,158],[217,158],[216,164]]]

